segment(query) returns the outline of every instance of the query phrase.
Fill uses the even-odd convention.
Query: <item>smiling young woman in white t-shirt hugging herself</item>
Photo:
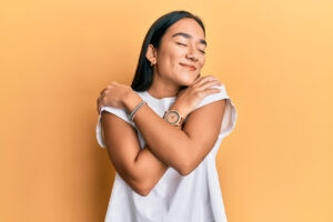
[[[215,155],[236,111],[223,83],[200,75],[204,39],[198,17],[164,14],[132,85],[101,91],[97,138],[117,171],[107,222],[226,222]]]

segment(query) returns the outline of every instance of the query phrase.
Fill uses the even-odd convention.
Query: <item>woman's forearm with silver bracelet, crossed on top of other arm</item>
[[[124,104],[129,111],[132,111],[141,101],[137,93],[131,93]],[[134,122],[151,151],[161,161],[180,173],[188,168],[189,149],[194,144],[181,128],[169,124],[149,105],[143,105],[137,112]]]

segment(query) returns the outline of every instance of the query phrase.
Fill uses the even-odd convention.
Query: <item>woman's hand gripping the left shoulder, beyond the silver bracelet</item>
[[[132,88],[127,84],[112,82],[103,89],[98,98],[97,110],[100,113],[102,107],[113,107],[124,109],[123,100],[132,91]]]

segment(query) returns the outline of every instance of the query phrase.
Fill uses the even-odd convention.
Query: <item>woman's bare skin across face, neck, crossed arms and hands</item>
[[[176,34],[176,33],[185,33]],[[174,36],[175,34],[175,36]],[[164,33],[161,46],[149,46],[147,59],[153,67],[153,82],[148,92],[154,98],[176,97],[170,110],[188,117],[183,127],[174,127],[144,104],[134,122],[147,144],[141,150],[135,129],[109,112],[102,112],[102,130],[108,153],[120,176],[139,194],[148,195],[169,167],[181,175],[191,173],[213,148],[222,123],[225,100],[194,108],[204,97],[218,93],[214,77],[200,77],[205,62],[202,52],[204,32],[193,19],[181,19]],[[195,70],[182,64],[193,64]],[[186,85],[180,91],[180,87]],[[142,99],[125,84],[112,82],[98,99],[101,107],[131,112]],[[193,111],[194,110],[194,111]],[[157,130],[159,129],[159,130]],[[119,140],[127,135],[125,140]]]

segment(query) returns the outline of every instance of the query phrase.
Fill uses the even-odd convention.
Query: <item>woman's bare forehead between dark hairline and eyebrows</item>
[[[169,38],[176,32],[185,32],[191,34],[194,39],[204,39],[204,32],[201,26],[190,18],[183,18],[175,23],[173,23],[165,32],[165,36]]]

